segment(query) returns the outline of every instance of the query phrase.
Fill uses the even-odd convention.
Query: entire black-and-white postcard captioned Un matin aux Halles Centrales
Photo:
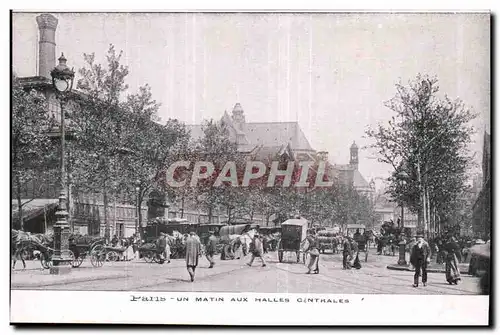
[[[11,322],[488,325],[489,12],[11,12]]]

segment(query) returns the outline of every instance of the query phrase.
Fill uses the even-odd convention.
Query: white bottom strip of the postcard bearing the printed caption
[[[14,323],[479,326],[488,315],[481,295],[12,290],[11,300]]]

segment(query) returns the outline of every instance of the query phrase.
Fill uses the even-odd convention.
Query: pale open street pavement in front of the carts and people
[[[370,255],[367,263],[362,262],[362,269],[342,270],[341,255],[325,254],[321,255],[318,275],[305,274],[306,267],[293,263],[292,256],[279,263],[276,253],[269,253],[265,256],[267,267],[262,267],[258,260],[248,267],[248,258],[218,260],[212,269],[202,258],[193,283],[183,259],[163,265],[143,260],[108,262],[102,268],[93,268],[85,261],[80,268],[61,276],[41,271],[39,262],[32,261],[27,270],[13,272],[12,289],[452,295],[479,292],[479,279],[466,274],[458,286],[450,286],[443,273],[429,273],[427,287],[413,288],[413,272],[386,268],[396,263],[394,256]]]

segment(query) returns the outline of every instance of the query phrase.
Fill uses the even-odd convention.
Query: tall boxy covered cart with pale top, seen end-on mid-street
[[[278,260],[283,262],[285,252],[293,252],[300,263],[301,244],[307,237],[308,222],[305,219],[290,219],[281,224],[281,240],[278,244]],[[305,254],[302,257],[306,262]]]

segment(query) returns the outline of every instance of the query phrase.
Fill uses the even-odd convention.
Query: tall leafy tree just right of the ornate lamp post
[[[106,66],[96,63],[95,54],[84,54],[85,66],[79,70],[77,89],[83,93],[71,119],[76,133],[73,181],[76,189],[102,194],[105,235],[109,239],[108,207],[110,192],[121,175],[119,161],[121,121],[126,119],[121,98],[128,86],[128,68],[120,64],[122,52],[110,45]]]

